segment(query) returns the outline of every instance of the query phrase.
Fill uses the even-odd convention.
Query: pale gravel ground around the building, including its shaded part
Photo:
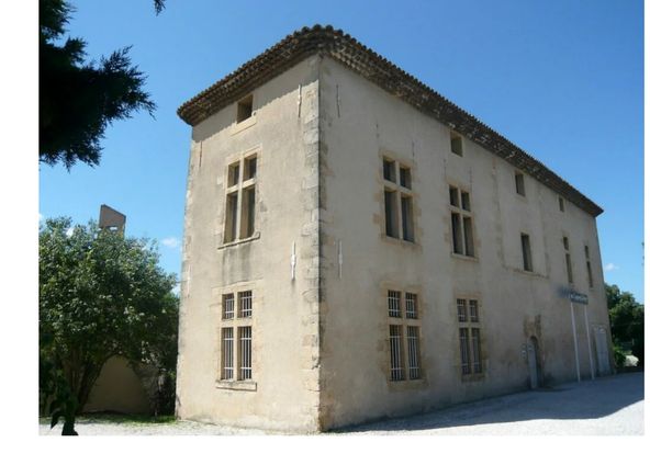
[[[41,423],[40,433],[57,435],[60,428],[49,430]],[[191,421],[111,423],[88,418],[78,421],[77,431],[81,435],[277,434]],[[512,394],[332,434],[643,434],[643,373]]]

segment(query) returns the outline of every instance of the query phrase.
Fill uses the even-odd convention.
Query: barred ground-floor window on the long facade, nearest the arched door
[[[473,298],[457,298],[456,308],[459,326],[460,372],[463,376],[481,374],[483,372],[483,363],[481,353],[479,300]]]

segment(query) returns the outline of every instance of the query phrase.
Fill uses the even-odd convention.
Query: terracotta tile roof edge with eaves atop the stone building
[[[195,126],[224,106],[246,97],[303,59],[320,54],[343,64],[369,81],[430,115],[468,139],[537,179],[589,214],[603,209],[501,134],[460,109],[415,77],[332,26],[303,27],[215,82],[178,109]]]

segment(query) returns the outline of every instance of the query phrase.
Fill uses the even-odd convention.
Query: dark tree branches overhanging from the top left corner
[[[165,3],[155,0],[156,13]],[[86,43],[66,38],[72,7],[65,0],[40,0],[40,161],[99,165],[107,126],[156,105],[143,90],[145,76],[132,66],[130,47],[86,61]]]

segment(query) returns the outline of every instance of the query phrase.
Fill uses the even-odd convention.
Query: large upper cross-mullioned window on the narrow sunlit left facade
[[[224,243],[255,234],[256,177],[257,154],[228,166]]]

